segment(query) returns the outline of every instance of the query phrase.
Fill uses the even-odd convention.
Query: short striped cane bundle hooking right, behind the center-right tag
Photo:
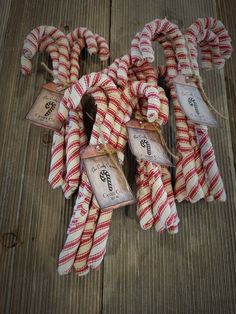
[[[145,96],[148,99],[146,117],[150,122],[157,122],[159,125],[168,120],[168,101],[164,91],[158,87],[154,88],[144,82],[134,82],[129,84],[122,94],[123,101],[132,103],[132,98]],[[152,112],[155,108],[155,114]],[[162,115],[160,112],[162,110]],[[149,112],[152,112],[150,115]],[[148,161],[138,161],[137,168],[137,215],[143,229],[151,228],[155,225],[157,231],[173,228],[172,223],[178,224],[177,215],[175,219],[170,219],[173,210],[176,208],[171,199],[171,206],[168,195],[162,182],[161,172],[155,163]],[[166,185],[169,183],[166,181]],[[169,188],[169,186],[168,186]],[[172,208],[171,208],[172,207]],[[167,220],[171,225],[167,225]],[[176,230],[176,228],[174,228]]]

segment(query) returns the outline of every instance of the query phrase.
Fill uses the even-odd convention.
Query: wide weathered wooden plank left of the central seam
[[[1,71],[0,233],[13,232],[23,243],[0,247],[1,313],[101,313],[102,270],[84,278],[57,274],[74,200],[65,201],[47,182],[52,133],[24,120],[47,79],[40,67],[47,59],[36,57],[29,77],[20,74],[19,60],[26,34],[44,23],[73,29],[79,23],[109,38],[109,8],[104,0],[12,3]],[[82,72],[101,67],[88,58]]]

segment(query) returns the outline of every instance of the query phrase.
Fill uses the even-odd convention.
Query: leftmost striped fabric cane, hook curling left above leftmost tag
[[[22,72],[31,73],[32,58],[37,51],[46,50],[50,53],[53,65],[54,82],[68,82],[69,70],[69,44],[65,35],[57,28],[52,26],[39,26],[33,29],[24,41],[23,55],[21,58]],[[63,184],[65,143],[64,137],[66,128],[61,132],[54,132],[52,145],[51,175],[49,181],[53,187]]]

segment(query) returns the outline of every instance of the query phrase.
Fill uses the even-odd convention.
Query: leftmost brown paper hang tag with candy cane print
[[[60,131],[62,122],[57,113],[63,92],[54,83],[44,84],[26,119],[31,123],[53,131]]]

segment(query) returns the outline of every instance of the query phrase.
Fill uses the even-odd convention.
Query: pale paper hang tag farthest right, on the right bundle
[[[190,120],[201,125],[219,127],[194,82],[186,82],[184,75],[178,75],[174,78],[174,84],[180,106]]]

